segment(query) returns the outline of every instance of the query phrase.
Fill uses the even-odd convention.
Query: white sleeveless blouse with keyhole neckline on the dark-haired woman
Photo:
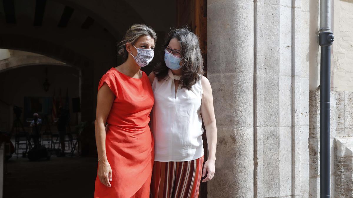
[[[155,161],[191,161],[203,156],[201,79],[190,90],[179,85],[175,94],[174,79],[178,77],[169,70],[166,80],[155,78],[152,83]]]

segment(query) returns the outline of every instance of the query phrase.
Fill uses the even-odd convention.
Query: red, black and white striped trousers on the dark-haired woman
[[[154,162],[151,198],[197,198],[203,157],[184,162]]]

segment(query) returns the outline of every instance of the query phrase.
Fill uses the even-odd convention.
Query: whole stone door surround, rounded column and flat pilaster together
[[[309,1],[209,0],[209,197],[308,197]]]

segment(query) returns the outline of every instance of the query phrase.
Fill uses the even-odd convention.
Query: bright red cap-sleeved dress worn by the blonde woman
[[[112,187],[96,178],[95,198],[148,198],[154,162],[154,139],[149,128],[154,104],[146,73],[131,78],[111,68],[103,75],[98,89],[106,82],[115,95],[107,117],[107,159],[112,168]]]

